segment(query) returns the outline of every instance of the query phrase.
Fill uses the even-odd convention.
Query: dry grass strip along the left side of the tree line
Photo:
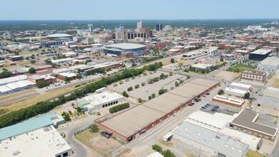
[[[69,88],[63,88],[63,89],[58,90],[58,91],[51,91],[50,93],[46,93],[44,95],[36,96],[34,98],[27,98],[24,101],[18,101],[16,103],[11,103],[11,104],[6,105],[6,106],[1,106],[0,109],[3,109],[6,112],[19,110],[20,108],[26,108],[28,106],[31,106],[31,105],[35,104],[35,103],[38,103],[39,101],[45,101],[49,98],[53,98],[53,97],[55,97],[59,94],[66,93],[67,91],[71,91],[73,89],[74,89],[74,87],[72,86],[72,87],[69,87]]]

